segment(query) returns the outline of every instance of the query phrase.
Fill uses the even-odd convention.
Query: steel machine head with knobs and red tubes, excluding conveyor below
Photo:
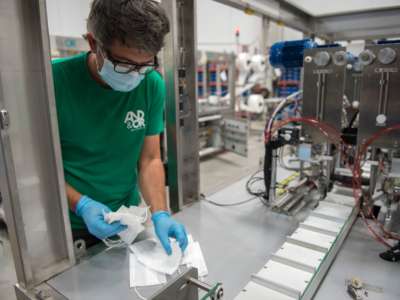
[[[386,184],[380,190],[388,188],[388,181],[391,184],[396,181],[390,178],[397,174],[399,147],[396,127],[400,122],[396,103],[399,44],[367,45],[357,60],[338,45],[301,51],[304,51],[302,98],[297,94],[287,97],[266,125],[264,180],[269,193],[265,197],[272,203],[276,201],[274,178],[279,158],[276,151],[290,145],[295,148],[292,153],[296,153],[292,160],[298,162],[294,169],[301,174],[298,180],[304,182],[307,177],[308,181],[314,181],[314,188],[322,193],[321,199],[333,184],[353,185],[356,189],[361,188],[357,180],[364,183],[369,180],[369,194],[363,197],[372,200],[376,197],[378,178],[381,184]],[[345,91],[350,93],[349,96]],[[301,102],[298,104],[301,113],[275,126],[274,118],[279,110],[292,102]],[[358,124],[355,124],[356,119],[360,120]],[[357,163],[360,164],[360,160],[366,161],[365,165],[370,168],[364,168],[358,174],[360,166]],[[376,167],[377,164],[380,168]],[[387,171],[384,171],[385,168]],[[351,180],[354,176],[360,178]],[[395,190],[389,196],[392,200],[396,198]],[[308,192],[309,189],[306,189],[303,195]],[[297,204],[302,202],[302,197],[293,197],[293,193],[285,195],[283,202],[291,198]],[[397,205],[389,202],[382,211],[392,215]],[[282,205],[280,203],[279,207]]]

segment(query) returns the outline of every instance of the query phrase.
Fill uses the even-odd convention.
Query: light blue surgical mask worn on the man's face
[[[114,65],[107,58],[104,58],[103,67],[99,74],[113,90],[120,92],[132,91],[144,79],[144,75],[138,72],[130,72],[128,74],[115,72]]]

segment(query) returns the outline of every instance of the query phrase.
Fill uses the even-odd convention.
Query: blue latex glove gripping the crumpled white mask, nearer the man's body
[[[83,218],[89,232],[100,240],[116,235],[127,228],[119,221],[108,224],[104,220],[104,213],[111,210],[104,204],[82,196],[76,205],[75,213]]]

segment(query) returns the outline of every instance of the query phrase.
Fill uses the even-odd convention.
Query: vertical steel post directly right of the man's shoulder
[[[163,57],[169,200],[178,211],[199,197],[196,0],[162,4],[171,21]]]

